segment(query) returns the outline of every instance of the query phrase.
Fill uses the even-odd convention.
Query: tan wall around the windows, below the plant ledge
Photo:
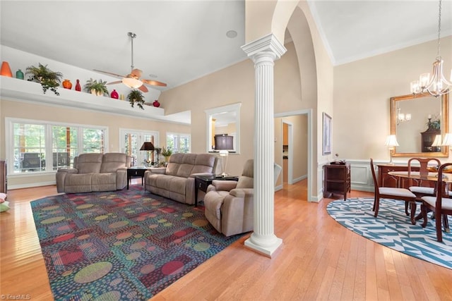
[[[191,130],[188,125],[179,125],[176,123],[162,123],[160,121],[149,121],[145,118],[133,118],[95,111],[66,109],[56,106],[6,100],[0,102],[0,111],[1,128],[4,128],[5,117],[107,126],[108,152],[121,152],[119,149],[119,128],[158,131],[160,134],[160,145],[166,145],[167,132],[190,133]],[[4,158],[6,154],[4,130],[1,131],[0,139],[0,158]],[[42,176],[8,176],[8,186],[10,187],[30,185],[32,183],[52,183],[54,181],[54,173],[47,173]]]

